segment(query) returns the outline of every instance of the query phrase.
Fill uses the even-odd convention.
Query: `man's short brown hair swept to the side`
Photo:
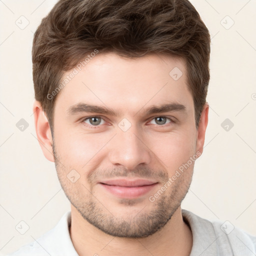
[[[59,0],[34,33],[35,99],[53,130],[55,90],[65,71],[88,53],[182,57],[193,96],[196,128],[209,83],[210,35],[188,0]]]

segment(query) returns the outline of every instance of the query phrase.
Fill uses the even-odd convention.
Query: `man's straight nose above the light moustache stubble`
[[[150,163],[151,151],[143,141],[143,136],[135,128],[118,130],[111,141],[109,160],[113,165],[134,169],[137,165]]]

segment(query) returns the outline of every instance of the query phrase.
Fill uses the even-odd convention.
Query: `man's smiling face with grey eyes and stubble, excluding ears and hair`
[[[149,112],[164,104],[173,105]],[[53,152],[61,186],[84,219],[113,236],[146,237],[166,224],[190,185],[196,138],[193,98],[178,58],[99,53],[56,98]],[[155,184],[106,184],[113,179]]]

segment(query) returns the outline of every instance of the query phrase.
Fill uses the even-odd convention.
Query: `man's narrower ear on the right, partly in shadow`
[[[197,136],[196,136],[196,152],[199,151],[202,153],[203,151],[205,131],[208,124],[208,111],[209,111],[209,104],[206,102],[203,105],[200,121],[198,124]]]

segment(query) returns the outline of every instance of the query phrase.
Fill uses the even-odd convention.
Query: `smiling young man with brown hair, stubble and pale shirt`
[[[71,211],[11,255],[255,255],[256,237],[180,207],[204,144],[209,54],[188,0],[56,3],[34,34],[33,111]]]

